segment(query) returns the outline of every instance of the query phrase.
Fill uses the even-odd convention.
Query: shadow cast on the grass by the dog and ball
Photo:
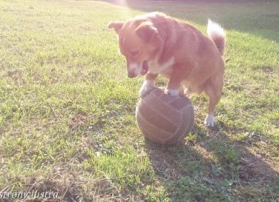
[[[246,147],[262,139],[234,141],[227,135],[232,130],[223,123],[214,129],[195,124],[190,135],[173,146],[145,139],[156,178],[173,201],[279,199],[278,172]]]

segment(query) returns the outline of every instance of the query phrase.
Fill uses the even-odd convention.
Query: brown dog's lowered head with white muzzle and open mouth
[[[149,70],[148,61],[154,59],[162,47],[158,29],[148,20],[111,22],[108,28],[116,31],[119,49],[126,57],[129,78],[145,75]]]

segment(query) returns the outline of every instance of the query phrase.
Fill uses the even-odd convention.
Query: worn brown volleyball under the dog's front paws
[[[173,144],[186,137],[195,121],[193,106],[188,98],[167,95],[154,88],[137,103],[137,125],[142,134],[160,144]]]

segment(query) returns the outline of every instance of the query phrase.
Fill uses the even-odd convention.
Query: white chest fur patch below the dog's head
[[[174,65],[174,58],[169,59],[163,64],[159,64],[157,60],[153,60],[149,62],[149,72],[169,77],[169,74],[172,73],[172,65]]]

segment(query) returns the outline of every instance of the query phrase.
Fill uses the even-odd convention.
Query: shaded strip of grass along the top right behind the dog
[[[250,33],[279,42],[279,36],[276,34],[279,23],[276,1],[103,1],[144,12],[160,11],[197,24],[206,24],[207,20],[211,19],[222,24],[225,30]]]

